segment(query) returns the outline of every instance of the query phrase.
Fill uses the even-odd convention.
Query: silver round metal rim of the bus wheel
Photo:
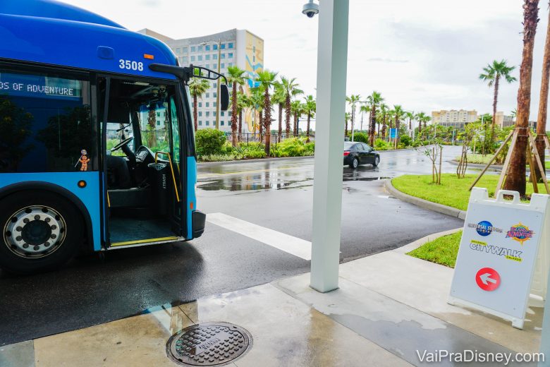
[[[44,258],[66,237],[65,219],[51,207],[30,205],[13,213],[4,225],[4,243],[22,258]]]

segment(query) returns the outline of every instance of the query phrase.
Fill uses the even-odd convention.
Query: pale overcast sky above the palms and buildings
[[[124,25],[173,38],[239,28],[265,40],[264,64],[296,77],[314,95],[317,20],[301,13],[306,0],[64,0]],[[494,59],[515,65],[523,49],[521,0],[350,0],[348,95],[381,92],[386,103],[415,112],[491,112],[493,92],[478,79]],[[536,119],[548,8],[534,45],[531,119]],[[501,85],[499,111],[516,107],[518,82]]]

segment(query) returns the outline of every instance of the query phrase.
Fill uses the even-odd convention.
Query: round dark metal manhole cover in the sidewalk
[[[185,327],[166,343],[166,353],[183,366],[220,366],[252,347],[252,335],[229,323],[204,323]]]

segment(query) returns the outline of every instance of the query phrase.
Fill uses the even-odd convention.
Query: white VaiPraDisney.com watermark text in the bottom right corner
[[[508,366],[508,363],[522,362],[544,362],[544,353],[502,353],[491,351],[477,351],[465,349],[463,351],[448,351],[445,349],[435,349],[433,351],[417,350],[416,354],[420,362],[451,362],[451,363],[502,363]]]

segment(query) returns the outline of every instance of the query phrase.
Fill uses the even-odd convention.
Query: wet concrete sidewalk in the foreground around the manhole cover
[[[448,305],[453,270],[405,255],[422,242],[342,264],[340,288],[326,294],[309,287],[306,273],[0,347],[0,366],[176,366],[169,337],[214,321],[252,334],[252,348],[231,366],[417,366],[424,350],[539,350],[542,308],[530,306],[517,330]]]

